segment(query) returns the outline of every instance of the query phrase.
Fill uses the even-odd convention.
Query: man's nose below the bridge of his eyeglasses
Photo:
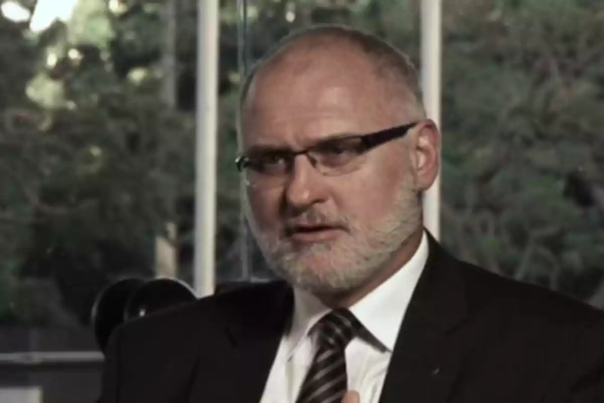
[[[303,211],[313,204],[326,201],[327,189],[324,179],[308,156],[298,155],[292,163],[292,171],[285,184],[286,208]]]

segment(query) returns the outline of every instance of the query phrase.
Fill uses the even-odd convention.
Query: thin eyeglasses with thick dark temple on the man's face
[[[388,141],[402,138],[418,122],[370,134],[353,135],[320,141],[307,149],[294,151],[262,147],[252,149],[235,160],[239,172],[245,174],[252,187],[269,188],[287,181],[298,155],[306,155],[318,172],[325,176],[338,176],[359,169],[369,150]]]

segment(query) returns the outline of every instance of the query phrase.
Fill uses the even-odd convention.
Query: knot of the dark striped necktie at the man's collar
[[[319,344],[344,350],[362,327],[348,309],[335,309],[319,321]]]

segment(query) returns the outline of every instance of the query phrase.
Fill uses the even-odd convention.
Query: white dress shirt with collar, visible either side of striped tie
[[[374,338],[366,341],[356,337],[345,350],[348,388],[359,393],[360,403],[379,400],[400,324],[426,260],[428,239],[424,233],[413,257],[390,279],[350,307]],[[313,295],[294,289],[292,324],[281,338],[260,403],[295,403],[316,351],[316,334],[311,330],[329,311]]]

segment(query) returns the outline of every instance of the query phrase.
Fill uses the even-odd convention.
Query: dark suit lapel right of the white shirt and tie
[[[464,353],[455,330],[466,318],[461,273],[429,236],[429,256],[400,327],[380,403],[442,403]]]

